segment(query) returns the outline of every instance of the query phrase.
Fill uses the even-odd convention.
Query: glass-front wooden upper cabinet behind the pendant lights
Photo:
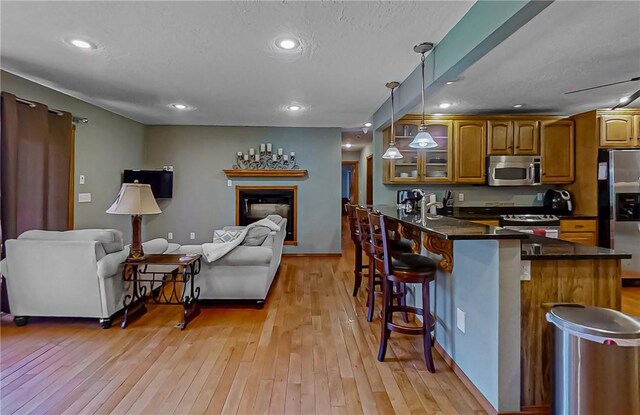
[[[385,160],[385,183],[451,183],[453,181],[452,121],[425,121],[427,131],[437,147],[409,147],[418,133],[420,120],[401,120],[395,125],[396,146],[403,155],[399,160]],[[384,134],[384,148],[389,146],[391,129]]]

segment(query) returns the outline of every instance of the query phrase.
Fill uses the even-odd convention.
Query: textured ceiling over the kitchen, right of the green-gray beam
[[[639,90],[640,82],[564,93],[640,76],[639,22],[638,1],[556,1],[469,67],[462,80],[431,94],[427,89],[426,111],[571,115],[610,108]],[[443,110],[442,102],[454,106]],[[515,104],[524,106],[516,110]],[[629,107],[640,107],[640,100]]]

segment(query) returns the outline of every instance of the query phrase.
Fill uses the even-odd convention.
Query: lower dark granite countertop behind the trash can
[[[629,259],[631,254],[616,252],[608,248],[582,245],[561,239],[527,235],[522,241],[523,260],[539,259]]]

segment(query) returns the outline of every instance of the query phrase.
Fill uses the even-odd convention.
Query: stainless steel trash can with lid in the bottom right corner
[[[640,414],[640,320],[598,307],[556,306],[553,413]]]

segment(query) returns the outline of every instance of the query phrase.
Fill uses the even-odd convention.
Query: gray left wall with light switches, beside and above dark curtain
[[[130,240],[129,217],[109,215],[105,210],[120,190],[122,170],[142,162],[144,126],[5,71],[0,79],[3,91],[89,119],[76,128],[74,227],[120,229]],[[78,183],[80,174],[85,175],[84,185]],[[78,203],[79,192],[91,193],[92,201]]]

